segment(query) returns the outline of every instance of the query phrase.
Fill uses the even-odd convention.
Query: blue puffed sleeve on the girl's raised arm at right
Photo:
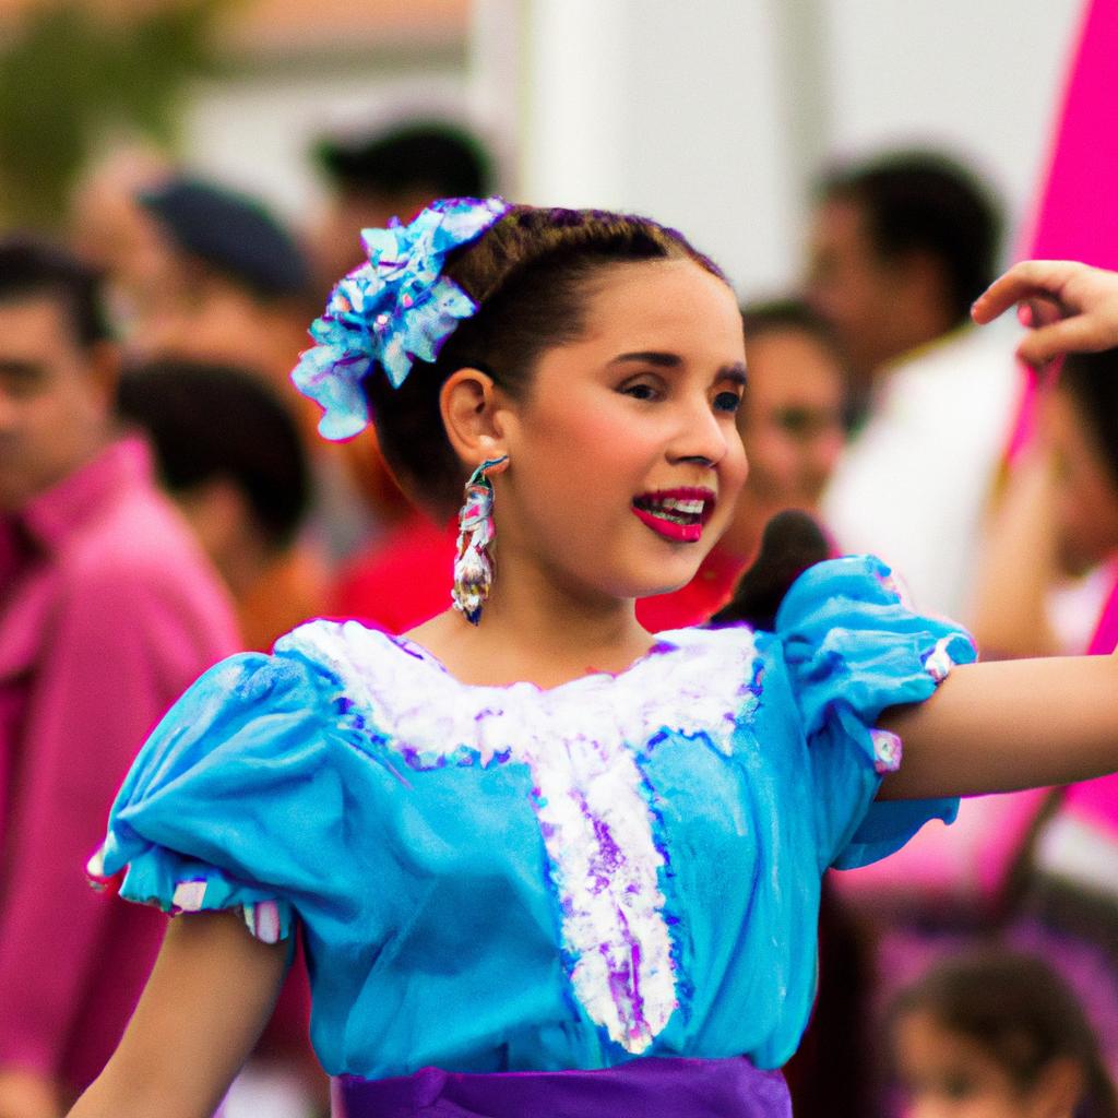
[[[875,723],[887,707],[922,702],[954,664],[974,661],[968,634],[909,609],[872,557],[806,570],[775,627],[807,736],[819,868],[866,865],[928,819],[950,823],[957,799],[874,802],[903,754],[900,738]]]

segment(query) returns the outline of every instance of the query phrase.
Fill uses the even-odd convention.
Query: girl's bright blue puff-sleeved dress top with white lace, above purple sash
[[[681,629],[618,675],[470,686],[357,623],[203,675],[91,870],[171,911],[302,923],[323,1067],[367,1079],[795,1050],[819,880],[953,800],[874,803],[974,650],[888,569],[805,572],[775,634]]]

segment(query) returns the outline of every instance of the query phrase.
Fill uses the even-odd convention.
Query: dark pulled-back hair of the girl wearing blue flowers
[[[473,299],[477,313],[458,324],[433,363],[416,361],[398,389],[379,367],[364,379],[381,451],[405,489],[440,514],[461,499],[465,474],[439,414],[439,391],[451,373],[480,369],[523,399],[540,354],[584,330],[595,275],[656,259],[690,259],[726,278],[674,229],[603,210],[513,206],[455,250],[443,274]]]

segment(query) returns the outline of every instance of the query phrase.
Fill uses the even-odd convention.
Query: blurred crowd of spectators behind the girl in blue
[[[20,1091],[63,1108],[92,1079],[151,966],[162,916],[95,894],[82,866],[174,699],[306,618],[400,633],[449,601],[454,525],[408,503],[371,433],[316,438],[287,378],[361,228],[500,183],[445,121],[312,155],[329,203],[305,228],[122,149],[77,184],[64,243],[0,240],[0,1118],[31,1112]],[[786,585],[767,572],[871,551],[986,659],[1109,651],[1118,352],[1038,376],[1012,330],[970,326],[1002,217],[945,153],[822,170],[806,244],[797,288],[742,307],[736,519],[643,623],[733,601],[764,623]],[[1115,799],[1096,781],[969,800],[950,831],[833,873],[796,1114],[961,1118],[1004,1090],[1017,1101],[982,1114],[1114,1115]],[[325,1112],[306,1012],[296,963],[230,1118]]]

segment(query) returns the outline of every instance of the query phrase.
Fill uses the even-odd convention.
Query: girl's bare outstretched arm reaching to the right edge
[[[882,799],[1072,784],[1118,769],[1118,656],[956,667],[927,702],[893,707],[904,761]]]

